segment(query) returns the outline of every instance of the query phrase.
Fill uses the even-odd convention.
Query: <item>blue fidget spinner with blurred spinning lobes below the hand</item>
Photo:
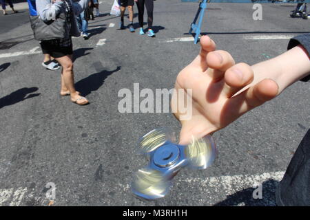
[[[205,169],[216,158],[216,144],[211,135],[193,138],[189,145],[175,142],[174,133],[165,128],[154,129],[141,137],[138,151],[149,157],[149,164],[134,176],[134,195],[148,200],[165,197],[181,168]]]

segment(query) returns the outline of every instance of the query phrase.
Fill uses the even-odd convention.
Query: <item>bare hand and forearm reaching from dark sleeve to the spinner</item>
[[[200,54],[178,74],[175,84],[175,89],[192,89],[191,119],[180,120],[177,95],[172,96],[172,112],[182,125],[180,144],[223,129],[310,72],[309,54],[302,45],[251,67],[216,50],[209,36],[202,36],[200,45]]]

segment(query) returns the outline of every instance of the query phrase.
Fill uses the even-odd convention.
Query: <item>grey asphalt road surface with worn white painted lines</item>
[[[118,91],[133,91],[134,83],[152,91],[174,87],[199,51],[193,41],[176,41],[190,36],[198,5],[156,1],[154,39],[118,30],[111,6],[101,3],[89,40],[73,40],[76,87],[91,102],[85,107],[59,97],[60,72],[41,66],[27,10],[0,16],[0,206],[47,206],[48,182],[56,185],[54,206],[275,206],[274,190],[310,127],[307,83],[215,133],[216,162],[182,170],[165,198],[132,196],[132,175],[147,164],[134,151],[138,137],[180,125],[172,113],[119,113]],[[288,40],[253,36],[309,32],[309,20],[289,17],[293,8],[265,4],[262,21],[254,21],[251,4],[209,4],[202,31],[237,62],[258,63],[285,52]],[[262,182],[262,199],[253,199],[254,184]]]

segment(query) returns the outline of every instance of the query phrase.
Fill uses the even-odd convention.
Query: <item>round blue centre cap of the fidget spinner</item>
[[[180,150],[173,144],[163,145],[154,153],[154,164],[160,167],[167,167],[174,164],[180,157]]]

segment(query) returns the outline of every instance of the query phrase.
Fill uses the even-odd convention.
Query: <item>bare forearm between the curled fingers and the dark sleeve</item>
[[[252,69],[254,81],[251,85],[270,78],[278,84],[280,94],[289,85],[310,74],[309,54],[302,45],[298,45],[269,61],[253,65]]]

